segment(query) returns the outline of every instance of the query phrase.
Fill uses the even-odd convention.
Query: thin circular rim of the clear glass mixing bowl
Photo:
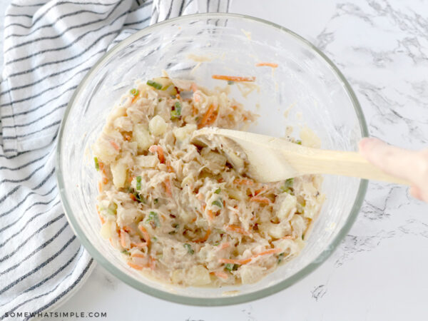
[[[267,297],[268,295],[273,295],[276,292],[280,292],[281,290],[285,290],[287,287],[290,287],[291,285],[295,284],[297,281],[309,275],[317,267],[322,265],[322,263],[324,263],[325,260],[327,260],[327,258],[329,258],[330,255],[332,255],[332,253],[337,248],[337,245],[339,245],[342,239],[345,238],[345,235],[347,235],[350,228],[352,227],[352,224],[355,222],[355,219],[357,218],[357,215],[360,212],[362,202],[365,198],[365,193],[367,191],[367,184],[368,184],[367,180],[360,180],[357,196],[355,198],[354,204],[352,205],[352,210],[350,211],[350,215],[348,216],[347,221],[345,222],[343,227],[340,229],[339,233],[337,233],[336,237],[332,240],[330,245],[328,245],[327,248],[325,248],[325,250],[323,250],[322,253],[320,253],[320,255],[318,255],[318,257],[312,261],[312,263],[308,264],[302,270],[296,272],[291,277],[288,277],[287,279],[282,280],[281,282],[278,282],[277,284],[267,287],[263,290],[258,290],[258,291],[243,294],[243,295],[211,298],[211,297],[188,297],[184,295],[176,295],[170,292],[165,292],[163,290],[158,290],[154,287],[150,287],[141,282],[135,282],[135,279],[133,279],[133,277],[126,275],[121,270],[119,270],[118,267],[110,263],[110,261],[106,260],[106,258],[104,258],[103,255],[89,242],[88,238],[86,238],[86,236],[84,235],[83,230],[81,230],[80,226],[78,225],[77,220],[73,215],[73,211],[71,210],[71,206],[68,203],[68,200],[66,198],[65,183],[63,181],[63,177],[61,174],[61,141],[63,139],[63,131],[66,126],[68,113],[70,112],[74,101],[76,101],[76,97],[81,93],[81,88],[85,86],[86,82],[91,80],[91,76],[98,70],[98,68],[101,68],[103,63],[108,61],[108,58],[116,54],[123,47],[141,38],[141,36],[149,34],[152,31],[161,29],[162,26],[174,24],[177,21],[193,20],[198,18],[200,19],[243,19],[246,21],[257,22],[260,24],[264,24],[266,26],[273,27],[274,29],[285,32],[286,34],[289,34],[290,36],[295,37],[295,39],[300,41],[302,44],[304,44],[309,49],[314,51],[315,54],[317,54],[322,59],[324,59],[327,65],[330,66],[330,68],[332,68],[333,73],[335,73],[337,78],[342,82],[342,85],[344,86],[345,91],[350,97],[352,106],[354,106],[355,113],[357,115],[357,118],[360,124],[360,131],[361,131],[362,137],[368,136],[367,123],[365,121],[362,108],[360,106],[360,103],[357,100],[357,96],[355,95],[355,92],[352,90],[350,86],[350,83],[348,83],[345,76],[343,76],[342,72],[339,70],[339,68],[337,68],[337,66],[335,66],[335,64],[330,60],[330,58],[328,58],[325,54],[323,54],[322,51],[320,51],[320,49],[317,49],[317,47],[313,45],[310,41],[307,41],[307,39],[296,34],[294,31],[291,31],[290,29],[285,28],[284,26],[280,26],[271,21],[256,18],[253,16],[247,16],[243,14],[228,14],[228,13],[190,14],[186,16],[179,16],[173,19],[168,19],[166,21],[161,21],[158,24],[153,24],[152,26],[148,26],[144,29],[141,29],[140,31],[136,31],[135,34],[128,36],[128,38],[119,42],[118,44],[116,44],[116,46],[114,46],[112,49],[107,51],[94,64],[94,66],[88,71],[88,73],[86,73],[86,76],[84,76],[81,83],[73,92],[73,95],[71,96],[71,99],[68,102],[66,111],[64,112],[63,120],[61,121],[61,126],[58,133],[58,143],[56,147],[56,180],[59,188],[59,194],[61,198],[61,203],[63,205],[63,209],[66,214],[68,223],[71,225],[71,228],[74,234],[77,236],[78,240],[82,243],[84,248],[88,250],[88,253],[90,253],[91,256],[98,263],[100,263],[106,270],[108,270],[108,272],[111,272],[111,274],[118,277],[118,279],[122,280],[123,282],[135,288],[136,290],[140,290],[141,292],[144,292],[148,295],[151,295],[153,297],[158,297],[162,300],[167,300],[170,302],[181,303],[184,305],[196,305],[196,306],[235,305],[235,304],[250,302],[253,300],[258,300],[260,298]]]

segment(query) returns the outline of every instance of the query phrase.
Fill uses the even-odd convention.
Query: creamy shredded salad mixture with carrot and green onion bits
[[[93,146],[98,214],[103,238],[131,268],[218,287],[257,282],[300,252],[324,200],[322,178],[258,183],[233,150],[190,141],[198,128],[242,129],[255,118],[226,91],[168,77],[136,82],[114,106]],[[293,142],[316,145],[301,138]]]

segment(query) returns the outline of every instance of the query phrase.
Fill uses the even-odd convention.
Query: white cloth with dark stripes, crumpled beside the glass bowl
[[[12,0],[0,83],[0,319],[52,310],[93,268],[68,227],[54,178],[58,126],[83,76],[138,29],[228,11],[229,1]]]

